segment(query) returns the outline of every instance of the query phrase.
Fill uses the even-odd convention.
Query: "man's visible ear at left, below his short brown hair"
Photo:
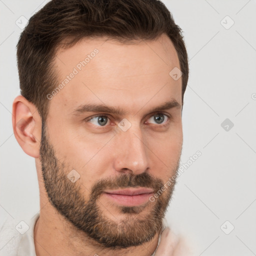
[[[23,151],[39,157],[41,140],[41,117],[35,105],[21,95],[12,103],[12,128]]]

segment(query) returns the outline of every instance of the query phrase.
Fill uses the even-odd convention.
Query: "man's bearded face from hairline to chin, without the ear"
[[[181,77],[169,75],[179,68],[173,44],[165,35],[129,45],[81,40],[58,50],[55,66],[63,86],[49,96],[40,147],[51,203],[106,247],[149,241],[161,229],[182,147],[181,107],[155,109],[182,103]]]

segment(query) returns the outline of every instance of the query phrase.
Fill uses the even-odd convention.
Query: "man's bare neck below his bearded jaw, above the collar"
[[[49,213],[49,207],[53,208],[49,204],[47,203],[41,209],[34,227],[34,245],[37,256],[151,256],[157,247],[158,233],[150,241],[138,246],[121,249],[105,248],[83,231],[77,230],[58,212]]]

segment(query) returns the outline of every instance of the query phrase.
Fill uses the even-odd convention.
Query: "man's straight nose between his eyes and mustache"
[[[140,174],[148,168],[148,148],[139,127],[120,130],[115,135],[114,168],[123,173]]]

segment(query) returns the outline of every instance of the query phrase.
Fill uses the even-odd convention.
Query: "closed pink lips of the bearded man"
[[[136,206],[148,202],[153,189],[147,187],[105,190],[103,195],[108,199],[125,206]]]

